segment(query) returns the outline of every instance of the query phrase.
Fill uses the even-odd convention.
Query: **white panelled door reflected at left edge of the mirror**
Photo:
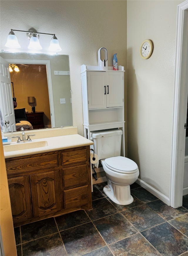
[[[1,87],[0,87],[0,108],[5,124],[5,132],[16,131],[14,106],[12,99],[11,78],[9,63],[0,57]]]

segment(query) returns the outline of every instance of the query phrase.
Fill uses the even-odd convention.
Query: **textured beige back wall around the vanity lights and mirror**
[[[33,27],[38,32],[56,34],[62,48],[59,54],[69,55],[73,126],[77,126],[78,133],[83,135],[80,66],[98,66],[100,47],[108,50],[108,66],[112,66],[114,53],[117,53],[118,65],[126,66],[126,1],[2,0],[0,11],[0,50],[7,51],[4,45],[10,29],[28,30]],[[26,34],[15,34],[21,43],[20,51],[26,52],[29,43]],[[41,46],[46,47],[46,51],[42,52],[47,52],[50,39],[51,36],[40,36]]]

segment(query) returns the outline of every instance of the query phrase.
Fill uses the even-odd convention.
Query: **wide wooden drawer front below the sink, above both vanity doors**
[[[26,173],[31,171],[48,169],[52,167],[58,167],[58,154],[6,160],[6,172],[8,177],[11,174],[26,175]]]

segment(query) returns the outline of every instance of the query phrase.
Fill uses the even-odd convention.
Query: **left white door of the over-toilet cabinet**
[[[87,72],[88,108],[106,108],[106,72]]]

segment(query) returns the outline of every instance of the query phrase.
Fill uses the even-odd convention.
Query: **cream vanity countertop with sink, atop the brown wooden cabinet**
[[[4,152],[4,157],[12,158],[12,157],[19,157],[24,155],[32,155],[32,154],[62,150],[66,148],[78,148],[82,146],[93,145],[93,141],[88,140],[79,134],[71,134],[71,135],[63,135],[63,136],[56,136],[56,137],[39,138],[39,139],[34,139],[34,137],[31,137],[31,139],[32,139],[32,142],[47,141],[48,145],[43,147],[37,147],[37,148],[28,148],[28,149]],[[32,145],[32,142],[22,142],[20,143],[20,145],[23,143],[27,143],[27,147],[28,147],[29,143],[31,143],[30,145]],[[19,143],[12,142],[11,144],[15,145]],[[11,145],[4,145],[3,148],[9,147],[9,146]],[[18,145],[18,148],[19,148],[19,145]]]

